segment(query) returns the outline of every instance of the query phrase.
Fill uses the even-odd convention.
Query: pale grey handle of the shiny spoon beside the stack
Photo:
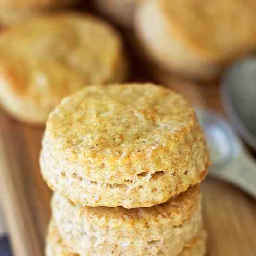
[[[256,162],[245,150],[218,176],[256,198]]]

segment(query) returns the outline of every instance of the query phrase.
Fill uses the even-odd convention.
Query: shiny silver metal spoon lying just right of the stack
[[[256,198],[256,162],[224,119],[213,111],[197,110],[210,149],[210,175],[231,182]]]

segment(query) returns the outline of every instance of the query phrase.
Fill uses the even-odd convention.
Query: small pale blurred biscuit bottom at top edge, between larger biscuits
[[[94,0],[98,10],[124,27],[133,27],[134,12],[143,0]]]

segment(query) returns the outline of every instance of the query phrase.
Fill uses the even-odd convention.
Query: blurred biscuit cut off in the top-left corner
[[[79,0],[1,0],[0,25],[6,26],[42,14],[75,6]]]

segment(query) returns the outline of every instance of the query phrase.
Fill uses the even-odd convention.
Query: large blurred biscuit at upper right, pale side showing
[[[256,1],[146,0],[136,30],[149,58],[172,74],[211,80],[256,49]]]

